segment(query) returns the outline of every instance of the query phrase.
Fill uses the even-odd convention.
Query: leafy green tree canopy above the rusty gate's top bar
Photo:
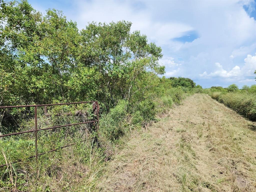
[[[1,105],[99,100],[105,110],[158,94],[162,49],[131,22],[89,23],[1,1]]]

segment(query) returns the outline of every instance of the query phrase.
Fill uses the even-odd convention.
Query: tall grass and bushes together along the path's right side
[[[256,85],[243,86],[242,89],[238,89],[236,84],[231,84],[227,88],[211,87],[207,91],[213,99],[250,120],[256,120]]]

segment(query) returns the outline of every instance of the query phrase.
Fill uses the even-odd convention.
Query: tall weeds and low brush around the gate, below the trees
[[[120,100],[109,113],[101,114],[97,132],[91,124],[40,131],[39,153],[69,143],[76,145],[39,156],[38,166],[35,159],[27,160],[35,153],[34,133],[0,140],[0,163],[7,161],[9,165],[0,168],[0,191],[90,191],[122,135],[129,136],[133,129],[141,131],[156,121],[156,114],[179,105],[189,94],[181,88],[169,88],[159,97],[145,99],[132,109],[127,101]],[[38,128],[91,120],[91,109],[91,105],[55,106],[48,110],[50,116],[38,110]],[[30,130],[34,126],[33,118],[24,119],[15,131]],[[17,159],[22,162],[10,164]]]

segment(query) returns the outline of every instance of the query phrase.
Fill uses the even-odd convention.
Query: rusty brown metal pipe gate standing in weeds
[[[92,103],[92,109],[93,109],[93,113],[95,115],[97,115],[97,120],[95,121],[86,121],[86,122],[80,122],[80,123],[74,123],[74,124],[68,124],[68,125],[60,125],[60,126],[55,126],[55,127],[47,127],[47,128],[43,128],[43,129],[37,129],[37,107],[39,106],[44,106],[44,112],[47,113],[47,106],[52,106],[52,105],[70,105],[70,104],[82,104],[82,103]],[[28,157],[28,159],[35,157],[36,158],[36,163],[38,161],[38,156],[39,155],[44,155],[46,153],[50,153],[65,147],[69,147],[74,145],[75,143],[66,145],[66,146],[62,146],[59,148],[55,148],[52,149],[50,151],[46,151],[44,153],[40,153],[38,154],[38,149],[37,149],[37,132],[38,131],[42,131],[42,130],[48,130],[48,129],[54,129],[54,128],[59,128],[59,127],[67,127],[67,126],[72,126],[72,125],[80,125],[80,124],[85,124],[85,123],[93,123],[93,122],[97,122],[97,129],[99,129],[99,104],[98,101],[84,101],[84,102],[74,102],[74,103],[57,103],[57,104],[42,104],[42,105],[19,105],[19,106],[0,106],[0,109],[7,109],[7,108],[22,108],[22,107],[35,107],[35,129],[34,130],[28,130],[28,131],[22,131],[22,132],[16,132],[16,133],[9,133],[9,134],[5,134],[5,135],[0,135],[1,137],[6,137],[6,136],[11,136],[11,135],[18,135],[18,134],[23,134],[23,133],[30,133],[30,132],[35,132],[35,155]],[[12,163],[17,163],[17,162],[21,162],[22,160],[17,160],[14,161]],[[3,164],[0,165],[0,167],[4,167],[7,164]]]

